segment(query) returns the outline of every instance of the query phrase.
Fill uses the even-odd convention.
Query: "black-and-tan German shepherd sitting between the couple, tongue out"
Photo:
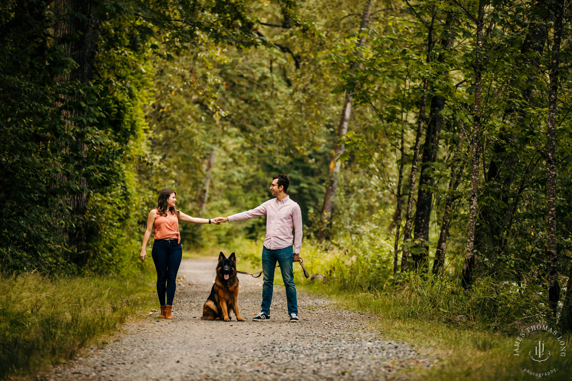
[[[230,322],[230,310],[235,311],[236,320],[244,322],[239,313],[239,279],[236,277],[236,256],[232,253],[228,258],[220,252],[216,265],[216,279],[210,295],[202,306],[201,320],[224,320]]]

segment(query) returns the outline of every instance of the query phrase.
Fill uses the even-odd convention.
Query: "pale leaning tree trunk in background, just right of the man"
[[[360,32],[364,29],[368,28],[370,23],[370,14],[371,14],[371,0],[366,0],[366,5],[364,6],[363,14],[362,14],[362,23],[360,24]],[[366,41],[366,37],[360,37],[356,47],[360,47]],[[359,54],[356,52],[356,54]],[[332,211],[333,211],[333,203],[336,198],[337,192],[337,174],[340,172],[340,165],[341,162],[338,161],[341,154],[344,153],[344,143],[340,142],[341,136],[345,135],[348,132],[348,125],[349,125],[349,117],[352,113],[352,93],[353,92],[345,92],[345,100],[344,105],[341,108],[341,117],[340,117],[340,124],[337,127],[337,135],[336,135],[336,142],[337,145],[333,149],[333,157],[332,161],[329,164],[329,173],[328,173],[328,188],[325,190],[324,196],[324,206],[322,208],[322,213],[320,215],[320,229],[318,231],[318,239],[324,239],[324,230],[325,225],[331,219]]]

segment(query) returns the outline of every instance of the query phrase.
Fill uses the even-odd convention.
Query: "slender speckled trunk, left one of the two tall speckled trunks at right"
[[[479,0],[479,14],[476,21],[476,46],[475,46],[475,104],[474,116],[472,118],[472,143],[471,143],[471,193],[469,195],[469,213],[467,223],[467,246],[465,248],[465,259],[463,264],[463,287],[468,288],[472,284],[472,269],[475,265],[475,223],[477,195],[479,185],[479,144],[480,144],[480,92],[481,92],[481,69],[483,65],[483,26],[484,26],[484,5],[486,0]]]

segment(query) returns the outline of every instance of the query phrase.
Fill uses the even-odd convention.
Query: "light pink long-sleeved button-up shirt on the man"
[[[260,207],[228,216],[228,221],[244,221],[263,215],[267,216],[264,246],[271,250],[283,249],[292,245],[293,239],[294,253],[299,254],[302,248],[302,212],[300,206],[289,196],[282,201],[268,200]],[[292,229],[295,231],[294,236]]]

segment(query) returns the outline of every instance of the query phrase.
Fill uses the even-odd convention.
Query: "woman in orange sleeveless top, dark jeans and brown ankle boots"
[[[147,259],[146,246],[151,236],[151,229],[155,231],[153,239],[153,262],[157,269],[157,295],[161,303],[161,318],[173,319],[171,315],[175,289],[177,288],[177,271],[181,264],[182,248],[181,235],[178,230],[178,221],[195,224],[210,224],[210,219],[196,219],[175,209],[176,193],[171,189],[163,189],[159,193],[157,207],[149,212],[147,229],[143,236],[141,260]],[[212,221],[219,225],[218,221]],[[165,301],[166,295],[166,301]]]

